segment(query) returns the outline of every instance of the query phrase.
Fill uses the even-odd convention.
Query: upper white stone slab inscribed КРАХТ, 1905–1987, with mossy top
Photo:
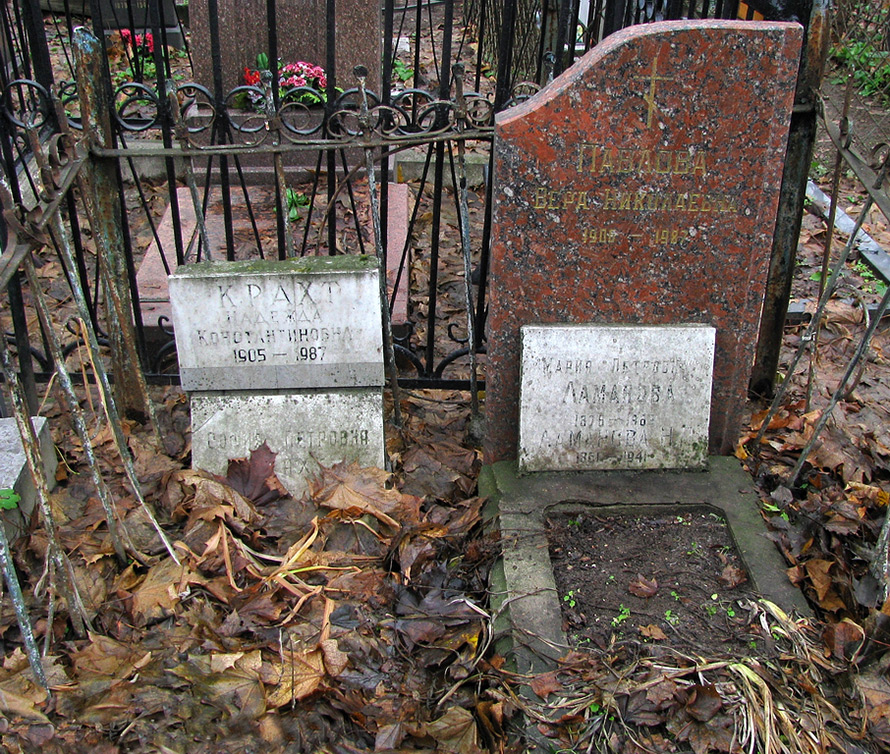
[[[382,385],[377,270],[364,256],[180,267],[169,284],[183,388]]]

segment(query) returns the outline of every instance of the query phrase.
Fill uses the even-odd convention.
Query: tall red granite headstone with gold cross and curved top
[[[519,328],[717,328],[710,452],[738,437],[801,27],[621,31],[498,116],[486,461],[515,458]]]

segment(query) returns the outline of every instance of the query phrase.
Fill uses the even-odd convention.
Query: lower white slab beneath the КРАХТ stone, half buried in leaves
[[[277,453],[275,473],[299,497],[318,465],[356,461],[383,468],[380,388],[325,392],[193,393],[192,466],[225,474],[264,442]]]

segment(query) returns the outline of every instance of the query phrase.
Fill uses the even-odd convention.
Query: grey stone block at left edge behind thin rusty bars
[[[56,486],[58,459],[53,447],[49,424],[43,416],[33,417],[34,430],[40,443],[43,470],[50,489]],[[20,496],[18,507],[0,512],[0,521],[10,542],[22,536],[37,502],[37,491],[25,460],[25,450],[18,426],[12,417],[0,419],[0,489],[15,490]]]

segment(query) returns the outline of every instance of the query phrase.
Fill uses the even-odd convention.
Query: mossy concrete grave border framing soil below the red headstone
[[[503,554],[492,571],[495,613],[502,615],[498,635],[507,636],[498,652],[516,657],[523,674],[556,669],[571,647],[562,630],[559,593],[548,554],[545,520],[560,510],[589,507],[603,513],[645,515],[711,509],[729,528],[753,587],[786,611],[810,614],[803,595],[788,581],[786,564],[766,528],[757,506],[751,478],[739,462],[712,456],[706,471],[588,471],[541,472],[520,475],[515,461],[484,466],[479,494],[489,502],[486,518],[496,519]],[[500,604],[497,604],[500,602]],[[499,610],[501,606],[505,609]],[[536,698],[530,688],[524,691]],[[529,725],[528,751],[547,751],[536,742]]]

